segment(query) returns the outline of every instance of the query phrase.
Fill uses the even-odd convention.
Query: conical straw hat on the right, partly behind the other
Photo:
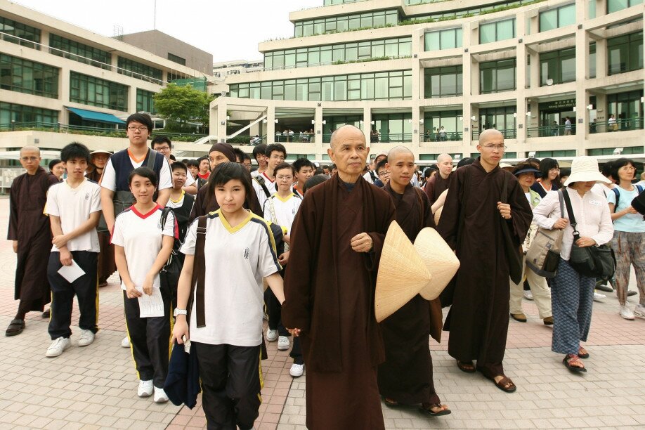
[[[459,259],[434,228],[426,227],[419,232],[415,249],[432,275],[419,294],[426,300],[434,300],[457,273]]]

